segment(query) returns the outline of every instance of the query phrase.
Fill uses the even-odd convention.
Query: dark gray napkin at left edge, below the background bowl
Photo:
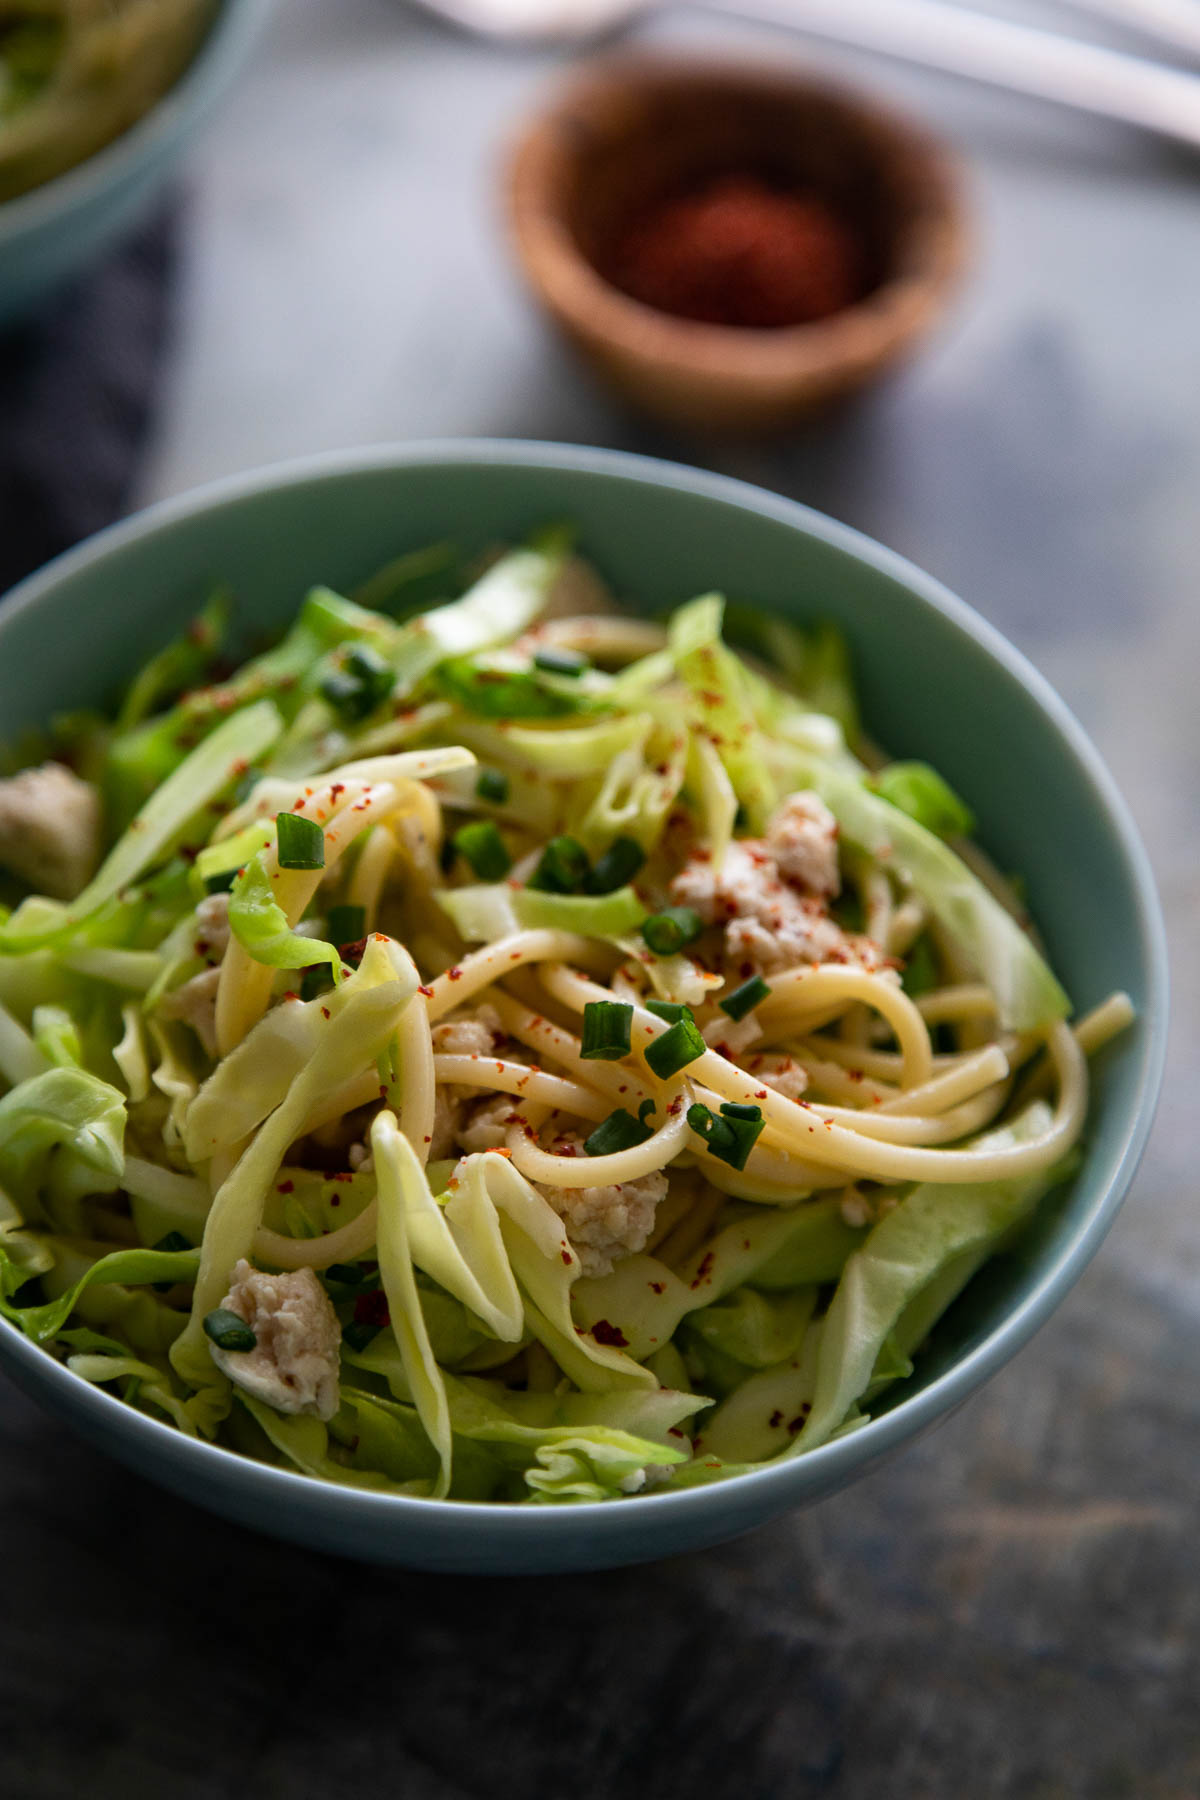
[[[167,207],[0,333],[0,594],[124,511],[171,324]]]

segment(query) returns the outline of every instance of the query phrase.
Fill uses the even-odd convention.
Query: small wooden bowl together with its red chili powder
[[[509,198],[556,326],[637,410],[703,432],[855,392],[964,261],[943,146],[802,68],[592,65],[525,128]]]

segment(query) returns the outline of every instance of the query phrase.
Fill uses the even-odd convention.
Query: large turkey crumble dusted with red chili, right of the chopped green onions
[[[880,947],[829,916],[838,887],[837,821],[817,794],[801,792],[784,799],[765,837],[736,839],[720,868],[694,851],[671,882],[671,900],[725,927],[730,979],[801,963],[878,968]]]

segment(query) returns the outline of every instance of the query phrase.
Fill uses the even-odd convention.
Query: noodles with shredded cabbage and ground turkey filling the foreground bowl
[[[833,626],[630,617],[561,535],[360,601],[214,680],[218,592],[0,783],[54,896],[0,927],[0,1309],[184,1433],[405,1496],[858,1429],[1072,1172],[1130,1001],[1065,1022]]]

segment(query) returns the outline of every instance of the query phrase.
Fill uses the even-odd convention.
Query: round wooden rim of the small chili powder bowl
[[[916,157],[930,185],[930,203],[916,223],[919,257],[891,272],[853,304],[808,324],[770,331],[707,324],[676,317],[617,288],[579,248],[563,209],[547,198],[551,169],[563,151],[560,121],[592,95],[644,86],[687,86],[694,79],[747,92],[820,94],[858,128],[873,126]],[[662,364],[676,373],[730,376],[774,383],[820,378],[833,367],[878,355],[927,326],[961,283],[970,243],[966,173],[961,157],[923,121],[887,95],[831,74],[819,63],[763,56],[718,58],[702,50],[621,50],[569,74],[558,90],[518,126],[506,155],[511,236],[527,283],[561,320],[612,355],[637,364]]]

